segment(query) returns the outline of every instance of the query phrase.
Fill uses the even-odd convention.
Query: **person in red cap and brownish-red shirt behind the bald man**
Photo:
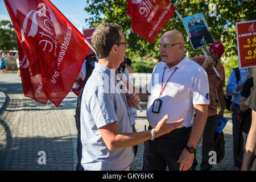
[[[210,104],[208,107],[207,123],[204,128],[203,143],[202,143],[202,161],[200,169],[201,171],[209,171],[212,165],[209,164],[209,152],[213,151],[214,131],[218,122],[218,118],[223,117],[225,109],[224,91],[225,86],[225,71],[220,62],[221,56],[224,54],[225,48],[220,42],[215,42],[208,49],[208,56],[197,56],[191,60],[201,65],[207,72],[209,81],[210,92]],[[217,69],[220,77],[213,71],[213,67]],[[220,111],[217,114],[217,102],[216,96],[218,96],[218,104],[220,105]],[[197,162],[193,164],[195,168]]]

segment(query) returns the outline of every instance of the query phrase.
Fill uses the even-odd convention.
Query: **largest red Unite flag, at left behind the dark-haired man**
[[[32,76],[59,106],[71,90],[88,52],[84,36],[49,0],[4,0]]]

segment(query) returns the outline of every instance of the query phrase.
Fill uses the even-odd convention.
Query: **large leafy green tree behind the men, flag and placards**
[[[224,44],[224,56],[226,57],[237,55],[236,22],[253,20],[255,19],[256,13],[255,0],[171,0],[171,2],[183,17],[203,13],[214,40]],[[216,3],[217,16],[209,16],[209,3]],[[90,27],[96,27],[102,22],[113,22],[123,27],[126,39],[130,42],[130,48],[127,51],[128,56],[147,55],[159,59],[156,44],[159,42],[160,35],[168,30],[179,30],[184,35],[185,40],[187,39],[187,33],[185,32],[183,23],[176,14],[174,14],[167,26],[164,27],[155,43],[151,44],[131,31],[131,18],[127,16],[127,1],[87,0],[87,4],[88,7],[85,7],[85,11],[92,16],[86,18],[85,21],[90,24]],[[194,51],[190,42],[185,43],[185,49],[188,51],[189,57],[202,54],[200,49]]]

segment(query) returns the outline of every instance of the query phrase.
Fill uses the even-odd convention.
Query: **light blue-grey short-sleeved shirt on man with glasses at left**
[[[117,121],[118,133],[131,133],[129,107],[115,81],[115,73],[95,64],[86,82],[81,102],[81,164],[85,170],[124,170],[134,159],[133,147],[110,151],[101,137],[100,127]]]

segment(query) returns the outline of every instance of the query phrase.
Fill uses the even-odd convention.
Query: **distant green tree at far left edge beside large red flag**
[[[16,33],[9,20],[0,21],[0,49],[4,52],[17,49]]]

